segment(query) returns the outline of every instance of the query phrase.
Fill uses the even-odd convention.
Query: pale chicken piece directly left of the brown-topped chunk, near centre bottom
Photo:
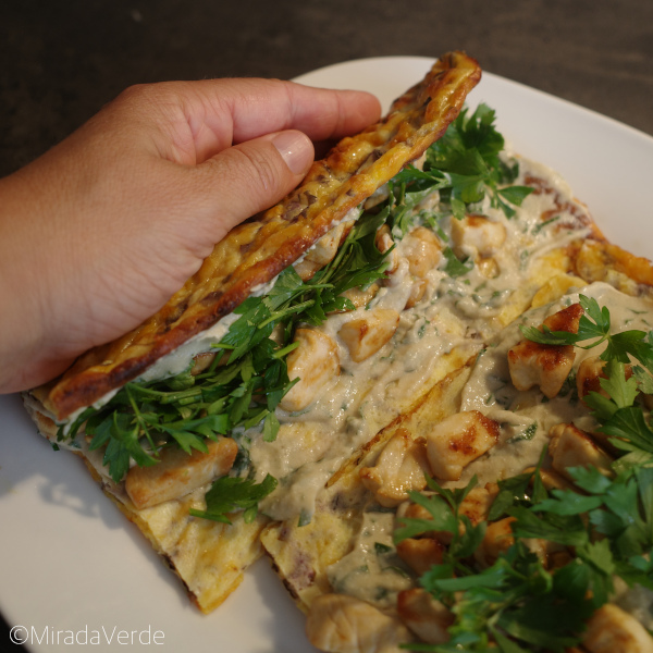
[[[382,506],[392,508],[408,498],[409,490],[423,490],[429,469],[424,441],[412,440],[406,429],[389,440],[373,467],[362,467],[360,479]]]

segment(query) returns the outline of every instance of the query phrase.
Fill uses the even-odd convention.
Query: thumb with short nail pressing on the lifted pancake
[[[304,178],[313,156],[310,138],[288,130],[241,143],[201,163],[214,242],[285,197]]]

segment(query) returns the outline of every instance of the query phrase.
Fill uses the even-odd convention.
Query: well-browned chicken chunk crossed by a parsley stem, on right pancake
[[[546,318],[543,324],[551,331],[577,333],[582,313],[580,304],[572,304]],[[508,352],[513,385],[521,391],[539,385],[544,395],[552,399],[563,387],[575,358],[574,345],[542,345],[523,340]]]

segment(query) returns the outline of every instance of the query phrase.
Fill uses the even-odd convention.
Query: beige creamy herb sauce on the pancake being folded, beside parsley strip
[[[443,355],[453,350],[465,352],[467,356],[478,354],[489,338],[517,317],[506,315],[506,307],[530,304],[539,288],[537,267],[542,256],[586,235],[587,231],[578,226],[575,231],[559,227],[576,223],[575,215],[567,211],[559,211],[551,224],[542,223],[542,214],[557,206],[569,204],[583,211],[559,175],[522,161],[521,176],[515,183],[522,183],[526,175],[544,178],[557,196],[531,194],[512,219],[492,208],[489,198],[475,209],[502,223],[507,233],[504,246],[492,257],[500,271],[495,278],[483,276],[478,266],[464,276],[452,278],[445,271],[446,261],[442,260],[428,273],[422,300],[411,309],[404,309],[414,282],[404,239],[396,243],[396,271],[369,306],[331,316],[320,328],[337,344],[341,374],[299,414],[278,410],[282,427],[275,442],[263,442],[254,430],[247,433],[252,441],[250,457],[257,478],[271,473],[281,480],[279,489],[261,504],[266,514],[275,519],[311,515],[316,496],[329,478],[353,452],[410,406],[438,375]],[[438,209],[432,202],[423,204],[422,208],[426,206]],[[444,220],[440,226],[451,238],[451,221]],[[380,352],[355,362],[338,331],[347,321],[365,317],[373,308],[398,311],[399,326]],[[532,421],[530,417],[520,419],[523,428]],[[517,423],[515,432],[521,428]]]

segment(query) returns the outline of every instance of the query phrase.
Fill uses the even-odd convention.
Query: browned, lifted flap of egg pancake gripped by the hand
[[[384,120],[344,138],[313,163],[294,193],[232,230],[160,311],[123,337],[82,355],[59,380],[38,389],[37,396],[62,420],[213,325],[420,157],[458,115],[480,77],[478,63],[465,53],[441,57]]]

